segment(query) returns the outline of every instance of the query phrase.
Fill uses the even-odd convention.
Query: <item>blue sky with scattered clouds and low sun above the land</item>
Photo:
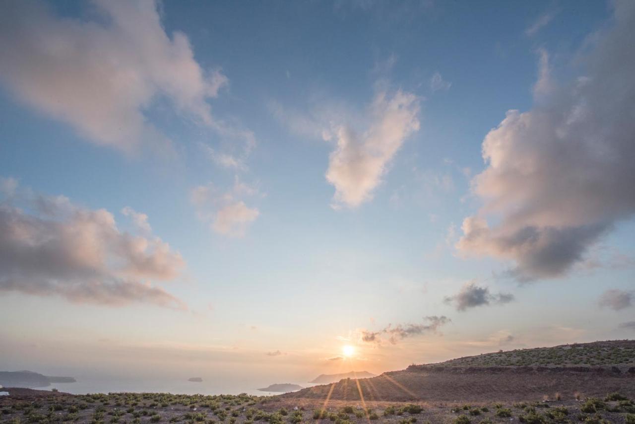
[[[635,3],[0,11],[0,369],[271,384],[635,336]]]

